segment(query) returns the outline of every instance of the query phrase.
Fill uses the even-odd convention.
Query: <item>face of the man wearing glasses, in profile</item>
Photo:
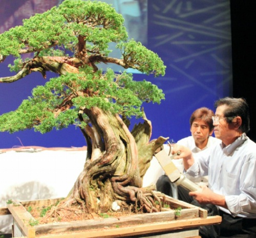
[[[216,108],[215,115],[219,117],[219,123],[214,122],[214,134],[216,138],[226,140],[226,138],[232,137],[232,130],[230,125],[227,123],[224,116],[224,112],[227,109],[226,105],[221,105]],[[224,142],[224,141],[223,141]]]

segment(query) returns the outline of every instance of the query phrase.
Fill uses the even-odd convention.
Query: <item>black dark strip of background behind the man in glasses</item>
[[[250,132],[256,142],[256,17],[255,1],[230,0],[233,97],[243,97],[250,107]]]

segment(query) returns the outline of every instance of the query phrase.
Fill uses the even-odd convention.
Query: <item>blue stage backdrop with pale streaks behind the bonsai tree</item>
[[[23,18],[28,18],[36,12],[44,12],[60,2],[2,0],[0,32],[20,25]],[[166,99],[160,105],[143,105],[147,118],[153,124],[152,138],[162,135],[177,141],[190,135],[188,121],[195,109],[206,106],[214,110],[214,102],[217,99],[232,96],[232,73],[236,74],[240,70],[236,64],[234,64],[236,68],[232,70],[232,54],[236,56],[238,52],[234,49],[236,44],[231,45],[231,22],[232,35],[236,37],[231,19],[236,17],[231,16],[230,19],[229,1],[142,0],[139,1],[141,5],[146,4],[147,7],[139,10],[138,6],[135,6],[138,1],[105,2],[117,4],[117,10],[125,15],[130,36],[158,53],[167,66],[164,77],[154,78],[134,74],[135,80],[150,80],[165,93]],[[121,3],[126,4],[123,10]],[[136,11],[127,12],[128,5],[130,7],[134,5]],[[232,7],[234,6],[231,4],[231,10]],[[232,10],[231,13],[233,12]],[[10,75],[7,65],[11,62],[12,59],[8,59],[0,64],[0,77]],[[248,71],[247,73],[249,74]],[[52,74],[47,76],[48,79],[53,77]],[[234,76],[234,79],[241,79],[242,76],[244,77],[244,75]],[[1,84],[0,114],[15,110],[23,99],[30,96],[33,87],[45,82],[40,74],[33,73],[15,83]],[[241,83],[240,80],[238,82]],[[234,84],[238,85],[238,82],[234,81]],[[241,89],[241,86],[238,87]],[[248,93],[240,91],[239,94],[234,90],[234,96],[245,97]],[[14,134],[0,133],[0,148],[84,145],[83,136],[75,126],[44,135],[32,130]]]

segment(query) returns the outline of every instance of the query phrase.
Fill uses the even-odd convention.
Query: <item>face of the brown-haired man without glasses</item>
[[[210,131],[208,125],[202,119],[195,119],[190,127],[190,131],[196,145],[202,144],[205,140],[207,141],[208,136],[212,134],[212,131]]]

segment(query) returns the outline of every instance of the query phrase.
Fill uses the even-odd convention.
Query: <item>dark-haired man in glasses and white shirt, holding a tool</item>
[[[172,153],[181,151],[175,159],[183,158],[188,175],[208,175],[208,187],[189,195],[200,204],[218,207],[222,216],[220,235],[256,237],[256,144],[246,136],[249,108],[244,99],[234,98],[220,99],[215,106],[212,120],[221,145],[193,155],[177,144]]]

